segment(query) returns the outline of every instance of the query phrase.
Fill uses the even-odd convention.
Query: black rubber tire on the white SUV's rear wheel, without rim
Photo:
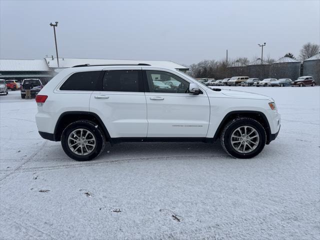
[[[87,129],[92,132],[96,143],[93,150],[87,155],[78,155],[74,153],[70,147],[68,146],[68,136],[69,134],[78,128]],[[77,161],[88,161],[97,157],[104,149],[105,146],[105,136],[100,126],[89,120],[78,120],[67,125],[61,134],[61,145],[65,154],[67,154],[70,158]]]

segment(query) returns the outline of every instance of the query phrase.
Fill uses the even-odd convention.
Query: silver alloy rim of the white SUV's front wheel
[[[259,139],[257,130],[247,125],[236,128],[230,137],[232,147],[240,153],[252,152],[258,146]]]

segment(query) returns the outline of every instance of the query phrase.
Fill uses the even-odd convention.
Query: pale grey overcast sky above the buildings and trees
[[[273,58],[320,42],[320,1],[0,0],[0,58]]]

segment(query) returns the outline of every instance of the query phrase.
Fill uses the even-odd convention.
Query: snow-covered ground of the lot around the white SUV
[[[77,162],[39,136],[34,99],[0,96],[0,239],[319,239],[320,87],[229,88],[281,113],[255,158],[121,143]]]

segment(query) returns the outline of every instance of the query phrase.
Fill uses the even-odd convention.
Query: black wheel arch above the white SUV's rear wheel
[[[108,130],[106,129],[101,118],[96,113],[90,111],[66,111],[61,113],[61,115],[55,123],[53,132],[54,141],[60,141],[63,129],[68,124],[76,120],[90,120],[92,122],[95,122],[102,128],[105,138],[110,139],[110,134]]]

